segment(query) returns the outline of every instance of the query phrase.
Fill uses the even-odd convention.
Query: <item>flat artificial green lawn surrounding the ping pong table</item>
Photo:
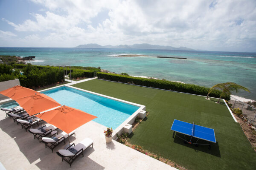
[[[99,79],[73,86],[145,105],[149,115],[129,139],[145,150],[191,170],[256,169],[256,153],[226,105],[216,104],[216,99]],[[209,150],[208,145],[195,147],[172,138],[174,119],[213,128],[217,143]]]

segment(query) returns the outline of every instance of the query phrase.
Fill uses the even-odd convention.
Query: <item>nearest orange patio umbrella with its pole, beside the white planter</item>
[[[65,105],[36,116],[43,119],[45,122],[58,127],[67,134],[81,125],[84,125],[85,123],[97,118],[89,113],[85,113],[84,111]]]

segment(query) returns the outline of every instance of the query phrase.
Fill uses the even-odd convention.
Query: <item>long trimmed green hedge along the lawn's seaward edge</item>
[[[99,79],[107,79],[115,82],[124,82],[131,83],[134,85],[142,85],[151,88],[160,88],[171,91],[178,91],[189,94],[198,94],[202,96],[207,96],[209,88],[199,85],[192,84],[183,84],[180,82],[171,82],[167,80],[158,80],[158,79],[146,79],[140,77],[131,77],[119,74],[110,74],[110,73],[102,73],[98,72],[97,77]],[[221,95],[221,91],[213,90],[209,96],[219,97]],[[223,96],[224,99],[230,99],[230,96]]]

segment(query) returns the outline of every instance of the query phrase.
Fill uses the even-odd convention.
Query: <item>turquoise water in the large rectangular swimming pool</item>
[[[139,109],[138,106],[97,96],[74,88],[62,86],[41,92],[52,97],[61,105],[80,109],[98,118],[94,122],[116,129],[129,116]]]

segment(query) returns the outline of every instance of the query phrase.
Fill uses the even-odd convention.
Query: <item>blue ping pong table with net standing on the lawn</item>
[[[180,120],[174,119],[171,130],[173,130],[172,137],[174,138],[175,132],[181,133],[184,135],[184,139],[179,137],[180,139],[183,139],[186,143],[189,144],[195,144],[196,146],[200,143],[198,143],[199,139],[205,140],[209,142],[209,149],[211,148],[211,142],[216,143],[215,139],[215,133],[214,130],[208,127],[195,125],[194,122],[187,123]],[[186,140],[186,135],[190,136],[190,140]],[[192,142],[192,137],[197,138],[197,141],[195,143]],[[208,145],[208,144],[207,144]]]

